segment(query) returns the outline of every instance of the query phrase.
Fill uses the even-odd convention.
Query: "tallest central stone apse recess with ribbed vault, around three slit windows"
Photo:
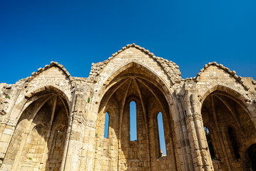
[[[98,110],[95,169],[177,170],[170,104],[160,79],[138,63],[130,63],[130,67],[115,75]],[[136,103],[137,140],[130,140],[131,101]],[[154,123],[157,122],[153,119],[159,111],[164,115],[166,157],[160,157],[160,149],[155,149],[160,147],[155,140],[158,129]],[[103,138],[106,112],[109,133],[108,138]]]

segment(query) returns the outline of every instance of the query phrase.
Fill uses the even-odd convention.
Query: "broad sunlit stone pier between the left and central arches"
[[[86,93],[76,93],[67,133],[66,158],[61,170],[93,170],[96,143],[96,115],[89,108]]]

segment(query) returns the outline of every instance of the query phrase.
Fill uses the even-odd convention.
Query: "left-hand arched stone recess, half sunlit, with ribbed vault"
[[[33,99],[36,100],[30,103]],[[64,99],[51,89],[28,99],[30,104],[21,113],[4,165],[10,165],[11,170],[60,169],[69,115]]]

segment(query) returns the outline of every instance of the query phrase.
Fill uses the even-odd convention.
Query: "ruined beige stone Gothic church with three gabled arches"
[[[183,79],[133,43],[88,78],[51,62],[0,83],[0,170],[256,170],[256,81],[202,67]]]

